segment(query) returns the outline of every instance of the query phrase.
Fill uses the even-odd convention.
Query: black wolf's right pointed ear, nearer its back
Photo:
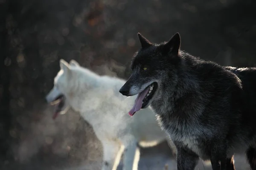
[[[164,45],[166,51],[177,55],[180,50],[180,34],[177,32],[172,38]]]

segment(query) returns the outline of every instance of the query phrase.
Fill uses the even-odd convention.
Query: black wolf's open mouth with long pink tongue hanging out
[[[157,82],[153,82],[144,91],[138,94],[137,98],[135,99],[135,103],[131,111],[129,111],[129,115],[133,116],[137,111],[140,109],[148,107],[149,101],[154,96],[157,90]]]

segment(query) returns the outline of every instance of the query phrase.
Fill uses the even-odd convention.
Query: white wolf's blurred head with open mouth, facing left
[[[89,77],[97,77],[92,76],[91,71],[80,67],[75,60],[67,63],[64,59],[61,59],[60,68],[61,70],[54,79],[54,86],[46,96],[47,102],[55,105],[53,119],[58,114],[66,113],[70,105],[74,110],[79,111],[81,96],[93,84]],[[87,76],[89,79],[87,79]]]

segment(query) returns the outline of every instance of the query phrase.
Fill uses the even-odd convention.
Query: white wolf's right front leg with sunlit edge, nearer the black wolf
[[[123,170],[137,170],[140,160],[140,150],[137,149],[137,142],[131,141],[127,144],[123,157]]]

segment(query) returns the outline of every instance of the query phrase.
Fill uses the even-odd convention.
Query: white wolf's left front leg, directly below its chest
[[[116,142],[107,142],[103,145],[103,164],[102,170],[116,170],[122,153],[124,151],[124,146]]]

